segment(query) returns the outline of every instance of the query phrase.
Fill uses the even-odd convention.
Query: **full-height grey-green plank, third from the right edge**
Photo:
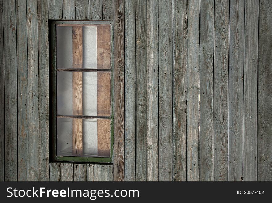
[[[228,180],[243,176],[244,1],[230,1]]]

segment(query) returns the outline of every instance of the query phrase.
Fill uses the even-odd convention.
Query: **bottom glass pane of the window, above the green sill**
[[[57,118],[57,156],[110,157],[110,135],[111,119]]]

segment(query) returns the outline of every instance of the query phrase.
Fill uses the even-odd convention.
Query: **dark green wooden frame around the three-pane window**
[[[50,23],[50,22],[49,22]],[[110,24],[111,29],[111,70],[105,69],[104,72],[111,72],[111,116],[78,116],[80,118],[104,118],[111,117],[111,133],[110,133],[110,157],[84,157],[84,156],[57,156],[57,52],[56,52],[56,26],[57,24],[76,24],[76,25],[93,25],[93,24]],[[49,122],[49,132],[50,132],[50,149],[49,149],[49,157],[50,162],[73,162],[73,163],[113,163],[113,107],[114,107],[114,55],[113,55],[113,21],[52,21],[49,24],[49,50],[50,50],[50,58],[51,58],[51,69],[50,69],[50,80],[51,83],[49,85],[49,105],[50,109],[50,119]],[[103,69],[87,69],[81,71],[103,71]],[[77,116],[74,116],[77,117]]]

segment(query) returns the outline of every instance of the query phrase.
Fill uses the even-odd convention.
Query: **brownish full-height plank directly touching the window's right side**
[[[114,159],[113,180],[124,180],[124,1],[116,0],[114,13]]]

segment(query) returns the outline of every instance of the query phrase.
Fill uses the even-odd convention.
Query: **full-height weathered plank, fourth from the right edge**
[[[214,180],[227,181],[229,1],[215,1]]]

